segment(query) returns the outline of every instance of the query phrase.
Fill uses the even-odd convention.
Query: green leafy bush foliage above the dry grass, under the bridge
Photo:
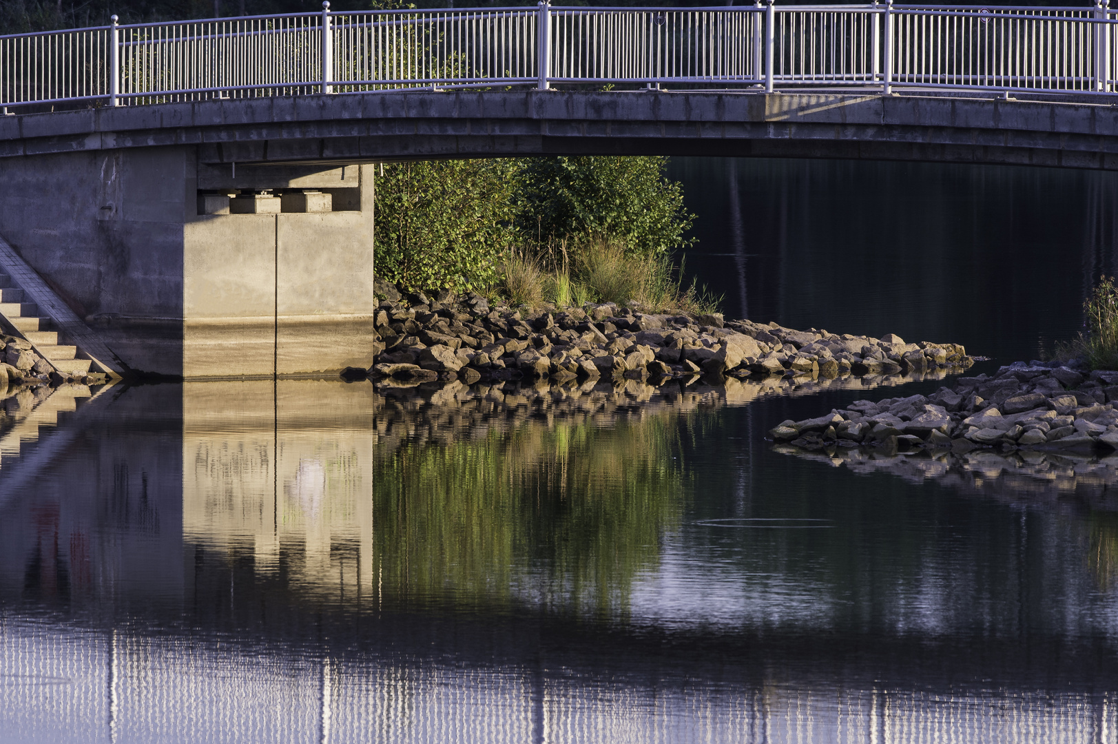
[[[524,158],[386,164],[377,272],[411,289],[485,291],[513,246],[607,236],[631,255],[686,245],[692,215],[666,158]]]

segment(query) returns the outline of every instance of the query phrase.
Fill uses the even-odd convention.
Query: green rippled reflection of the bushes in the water
[[[475,442],[408,445],[379,468],[386,591],[623,606],[682,511],[674,414],[603,428],[529,423]]]

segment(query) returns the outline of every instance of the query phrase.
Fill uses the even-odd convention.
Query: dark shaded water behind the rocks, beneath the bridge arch
[[[955,341],[1007,361],[1081,327],[1118,273],[1118,177],[1076,170],[679,158],[688,269],[728,316]]]

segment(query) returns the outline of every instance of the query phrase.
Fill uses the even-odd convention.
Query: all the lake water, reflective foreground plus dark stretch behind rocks
[[[672,173],[728,314],[988,368],[1115,271],[1111,177]],[[1118,741],[1112,467],[764,440],[941,384],[9,398],[0,742]]]

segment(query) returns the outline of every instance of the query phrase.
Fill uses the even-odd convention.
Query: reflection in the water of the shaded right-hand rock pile
[[[790,444],[777,444],[773,449],[804,460],[846,467],[861,475],[882,472],[910,483],[935,480],[949,488],[1006,500],[1035,502],[1077,496],[1097,502],[1112,498],[1115,491],[1110,489],[1118,483],[1118,454],[1098,458],[1027,450],[889,454],[866,448],[827,448],[809,452]]]

